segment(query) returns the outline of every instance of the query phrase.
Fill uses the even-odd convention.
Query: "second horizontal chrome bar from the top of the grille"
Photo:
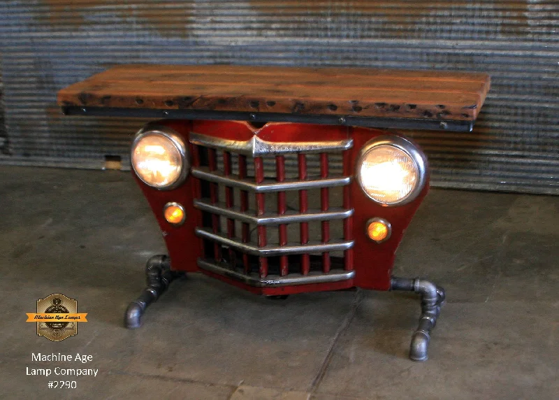
[[[193,167],[191,169],[192,176],[195,178],[209,180],[213,183],[221,183],[226,186],[239,187],[242,190],[250,190],[256,193],[283,192],[284,190],[305,190],[319,189],[321,187],[345,186],[351,183],[351,176],[342,176],[339,178],[326,178],[314,180],[284,180],[284,182],[268,181],[269,183],[256,184],[249,180],[240,180],[224,176],[223,173],[210,171],[206,167]]]

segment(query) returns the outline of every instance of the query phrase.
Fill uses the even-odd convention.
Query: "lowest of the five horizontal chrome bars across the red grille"
[[[294,286],[294,285],[310,285],[312,283],[331,283],[340,282],[343,280],[350,280],[354,278],[355,271],[343,271],[343,272],[311,272],[309,275],[301,275],[300,273],[290,273],[289,276],[268,276],[266,278],[255,278],[254,276],[245,275],[237,271],[232,271],[219,264],[214,264],[212,262],[205,261],[203,259],[198,259],[198,266],[205,270],[213,273],[217,273],[221,276],[226,276],[227,278],[233,278],[235,280],[240,280],[242,283],[246,283],[250,286],[255,287],[278,287],[278,286]]]

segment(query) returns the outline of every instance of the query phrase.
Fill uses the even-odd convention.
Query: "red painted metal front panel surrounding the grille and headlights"
[[[312,124],[289,124],[283,122],[266,124],[264,127],[258,129],[250,126],[246,122],[235,121],[190,122],[166,120],[161,123],[167,124],[169,127],[175,129],[175,131],[177,131],[185,141],[187,141],[189,131],[196,131],[200,134],[230,138],[240,141],[247,141],[252,138],[254,134],[258,134],[263,140],[277,142],[300,141],[303,137],[305,141],[340,140],[350,137],[354,139],[354,148],[344,152],[343,157],[344,174],[347,176],[354,176],[356,168],[355,163],[359,149],[371,138],[387,134],[386,131],[379,129],[348,128]],[[199,165],[199,160],[196,161],[195,148],[196,146],[194,146],[194,150],[192,150],[192,162],[194,165]],[[245,159],[244,164],[243,159]],[[259,171],[263,172],[263,169],[259,169],[257,165],[255,165],[255,167],[255,171],[257,173],[259,173]],[[321,171],[321,175],[323,175],[323,171]],[[263,178],[263,174],[259,176],[260,178]],[[239,157],[239,177],[242,179],[247,178],[246,157],[244,156]],[[157,217],[157,222],[161,227],[161,231],[164,231],[164,238],[171,259],[172,268],[178,271],[198,271],[196,258],[201,257],[201,249],[196,245],[191,245],[188,247],[188,251],[185,251],[185,243],[200,243],[200,240],[194,235],[194,227],[201,226],[201,213],[193,206],[194,197],[199,197],[200,195],[196,189],[196,180],[189,176],[184,185],[175,190],[168,191],[154,190],[141,183],[140,180],[138,180],[138,185],[140,185],[140,188],[147,197],[147,201],[150,203],[150,206]],[[259,294],[293,294],[314,290],[335,290],[351,286],[363,287],[365,289],[388,290],[390,287],[390,276],[395,258],[395,250],[398,248],[398,244],[400,243],[405,228],[412,220],[414,213],[423,200],[423,197],[426,196],[427,192],[428,185],[423,188],[419,197],[412,201],[412,203],[398,207],[383,207],[377,205],[366,197],[355,180],[352,181],[351,185],[344,188],[343,205],[347,208],[354,208],[353,217],[345,220],[343,229],[344,238],[355,241],[355,250],[347,250],[345,255],[345,268],[355,270],[355,277],[352,280],[344,281],[342,283],[255,288],[248,287],[247,285],[231,280],[230,278],[217,276],[216,278]],[[323,203],[323,197],[324,194],[321,194],[321,209],[326,207],[326,203]],[[217,193],[215,199],[217,201]],[[187,223],[182,225],[182,227],[173,227],[164,219],[162,210],[165,203],[169,201],[177,201],[184,206],[184,210],[187,212]],[[256,202],[257,208],[259,208],[257,212],[263,213],[263,201],[259,202],[257,199]],[[245,196],[241,193],[240,208],[244,210],[248,209],[248,197],[246,193]],[[365,222],[371,217],[382,217],[391,223],[392,234],[389,240],[384,243],[377,244],[372,243],[365,236]],[[245,225],[247,229],[245,229]],[[324,238],[326,237],[324,236],[324,229],[322,234],[322,241],[324,241]],[[260,237],[265,238],[266,236],[261,235],[261,232],[259,232],[259,238]],[[242,241],[249,241],[248,224],[243,224]],[[263,241],[259,240],[259,244],[263,244]],[[243,258],[245,262],[245,269],[247,269],[247,266],[249,265],[248,257]],[[265,261],[267,261],[267,259],[265,259]],[[208,275],[212,274],[208,273]]]

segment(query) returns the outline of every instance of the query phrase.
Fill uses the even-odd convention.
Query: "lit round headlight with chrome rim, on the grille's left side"
[[[160,190],[180,185],[189,169],[184,141],[173,129],[164,126],[148,124],[136,134],[131,160],[138,178]]]

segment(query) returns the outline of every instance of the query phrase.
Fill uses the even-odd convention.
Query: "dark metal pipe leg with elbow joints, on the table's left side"
[[[171,271],[169,257],[166,255],[150,257],[145,264],[147,287],[138,299],[132,301],[126,308],[124,326],[129,329],[139,328],[147,306],[159,299],[173,280],[183,275],[182,272]]]

